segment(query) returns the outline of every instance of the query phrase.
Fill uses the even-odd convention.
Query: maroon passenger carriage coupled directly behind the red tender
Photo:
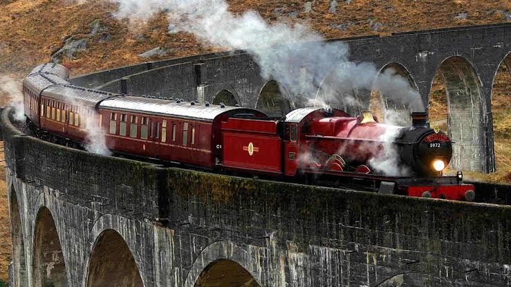
[[[125,95],[102,101],[99,113],[109,149],[207,168],[221,166],[221,122],[234,115],[266,116],[254,109]]]

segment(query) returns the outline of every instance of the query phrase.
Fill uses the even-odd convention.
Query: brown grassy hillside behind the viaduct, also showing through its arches
[[[326,38],[511,21],[511,2],[502,0],[228,2],[233,12],[257,10],[272,23],[306,21]],[[127,21],[112,16],[115,9],[108,1],[0,0],[0,74],[21,78],[37,64],[50,61],[52,55],[73,74],[80,74],[221,50],[201,44],[186,33],[167,33],[167,20],[162,15],[144,27],[130,28]],[[139,56],[157,47],[158,55]],[[431,112],[434,119],[443,120],[447,113],[445,91],[441,79],[437,80]],[[483,178],[506,180],[511,169],[511,88],[506,71],[498,74],[495,87],[496,154],[501,172]],[[0,95],[0,104],[6,102],[6,95]],[[3,166],[0,168],[0,278],[6,279],[10,231],[5,174]]]

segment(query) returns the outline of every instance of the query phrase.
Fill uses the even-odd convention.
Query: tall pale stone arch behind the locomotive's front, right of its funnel
[[[445,87],[447,115],[441,115],[433,107],[442,107],[432,101],[435,81],[431,81],[429,113],[431,127],[447,120],[447,133],[455,142],[451,167],[465,171],[484,172],[486,167],[485,137],[481,98],[481,80],[474,66],[458,55],[447,57],[438,66],[436,78],[440,78]],[[444,95],[440,95],[443,97]],[[441,100],[441,99],[440,99]]]

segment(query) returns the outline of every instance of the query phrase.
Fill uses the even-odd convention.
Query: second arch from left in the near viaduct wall
[[[47,207],[37,212],[34,231],[32,286],[68,286],[66,264],[53,216]]]

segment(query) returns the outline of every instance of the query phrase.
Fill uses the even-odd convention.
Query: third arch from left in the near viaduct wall
[[[113,229],[104,230],[94,244],[86,286],[144,286],[140,270],[126,241]]]

